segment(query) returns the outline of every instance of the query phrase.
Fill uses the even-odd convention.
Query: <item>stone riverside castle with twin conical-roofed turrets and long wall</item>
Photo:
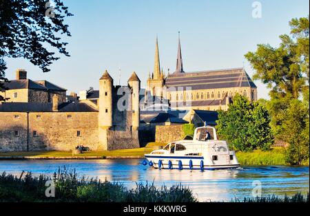
[[[77,102],[63,102],[48,81],[37,83],[25,76],[17,80],[28,83],[28,88],[10,89],[22,92],[19,100],[0,102],[0,151],[69,151],[78,145],[92,150],[139,147],[140,80],[136,73],[128,86],[114,86],[105,71],[99,80],[99,98]],[[51,101],[46,89],[53,90]],[[37,99],[34,94],[29,96],[30,90],[39,92]],[[44,100],[39,100],[40,94]],[[126,104],[123,109],[119,109],[119,101]]]

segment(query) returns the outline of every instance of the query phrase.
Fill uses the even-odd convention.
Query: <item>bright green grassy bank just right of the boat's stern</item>
[[[270,151],[237,151],[236,156],[241,165],[289,165],[285,162],[285,147],[273,147]],[[309,165],[309,160],[302,165]]]

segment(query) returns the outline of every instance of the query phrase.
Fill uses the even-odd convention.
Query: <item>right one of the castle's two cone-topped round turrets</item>
[[[138,130],[140,123],[139,91],[140,79],[135,72],[132,73],[128,80],[128,85],[132,89],[132,129]]]

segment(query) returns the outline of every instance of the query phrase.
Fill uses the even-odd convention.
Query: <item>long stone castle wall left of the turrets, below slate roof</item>
[[[14,115],[19,118],[15,119]],[[92,150],[102,149],[98,142],[97,112],[34,112],[29,114],[29,125],[27,115],[1,113],[0,151],[27,151],[27,140],[29,151],[69,151],[79,144]],[[19,131],[18,137],[14,136],[14,131]],[[81,136],[77,136],[77,131]]]

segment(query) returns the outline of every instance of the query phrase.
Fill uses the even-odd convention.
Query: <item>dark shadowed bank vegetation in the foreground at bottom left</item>
[[[196,202],[192,191],[185,186],[137,184],[128,189],[118,182],[108,182],[85,176],[79,177],[74,170],[59,169],[52,177],[40,175],[25,177],[0,175],[0,202]],[[45,182],[54,181],[55,197],[45,196]]]

